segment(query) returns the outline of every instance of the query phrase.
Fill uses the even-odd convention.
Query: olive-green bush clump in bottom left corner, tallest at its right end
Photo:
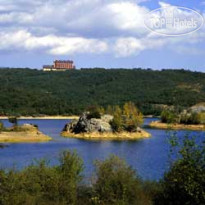
[[[0,204],[77,204],[82,160],[65,151],[59,162],[50,167],[42,160],[22,171],[0,171]]]

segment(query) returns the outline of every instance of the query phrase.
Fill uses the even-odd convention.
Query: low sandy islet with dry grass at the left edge
[[[40,132],[36,125],[18,125],[15,118],[10,118],[9,121],[14,124],[9,128],[0,123],[0,143],[46,142],[52,139]]]

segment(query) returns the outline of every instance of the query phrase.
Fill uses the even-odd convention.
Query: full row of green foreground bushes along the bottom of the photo
[[[159,182],[142,180],[114,155],[95,161],[93,177],[84,181],[82,159],[67,150],[55,166],[41,160],[23,170],[0,170],[0,204],[202,205],[205,146],[194,137],[177,139],[170,136],[170,166]]]

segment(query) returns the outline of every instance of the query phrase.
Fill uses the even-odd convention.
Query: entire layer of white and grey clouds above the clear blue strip
[[[150,10],[140,4],[143,1],[0,0],[0,49],[127,57],[204,41],[204,28],[177,38],[150,32],[144,26]],[[159,6],[171,5],[159,2]]]

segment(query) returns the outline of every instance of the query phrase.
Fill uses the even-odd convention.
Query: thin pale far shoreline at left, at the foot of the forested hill
[[[7,120],[9,116],[0,116],[0,120]],[[53,115],[53,116],[39,116],[39,117],[33,117],[33,116],[21,116],[18,119],[19,120],[71,120],[71,119],[78,119],[79,116],[72,115],[72,116],[61,116],[61,115]]]

